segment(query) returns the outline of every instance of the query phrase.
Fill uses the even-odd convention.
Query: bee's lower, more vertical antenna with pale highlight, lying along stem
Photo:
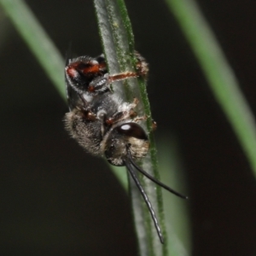
[[[133,172],[133,167],[132,167],[132,165],[131,165],[130,160],[125,160],[125,166],[127,167],[128,172],[130,172],[131,177],[133,178],[134,182],[135,182],[136,185],[137,185],[137,188],[139,189],[139,191],[140,191],[141,194],[143,195],[143,199],[144,199],[144,201],[146,202],[146,205],[147,205],[147,207],[148,207],[148,211],[150,212],[151,217],[152,217],[152,219],[153,219],[153,221],[154,221],[154,226],[155,226],[155,229],[156,229],[156,231],[157,231],[157,234],[158,234],[158,236],[159,236],[159,238],[160,238],[160,242],[161,242],[161,243],[164,243],[164,238],[163,238],[162,232],[161,232],[161,230],[160,230],[160,225],[158,224],[157,218],[156,218],[156,216],[155,216],[154,209],[153,209],[153,207],[152,207],[150,201],[148,200],[148,195],[145,193],[145,190],[143,189],[142,184],[141,184],[141,183],[139,182],[139,180],[137,179],[137,176],[136,176],[135,172]]]

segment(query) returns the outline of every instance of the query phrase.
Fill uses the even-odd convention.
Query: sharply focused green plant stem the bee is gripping
[[[131,22],[127,15],[125,3],[122,0],[95,0],[96,16],[99,24],[100,35],[104,54],[108,62],[109,73],[119,73],[135,70],[134,39],[131,32]],[[125,82],[113,83],[113,91],[120,98],[131,102],[136,97],[140,104],[137,113],[148,116],[147,126],[151,143],[151,150],[148,157],[143,159],[141,166],[147,172],[158,177],[156,172],[156,150],[154,148],[154,139],[152,136],[152,120],[148,103],[148,97],[145,90],[143,79],[127,79]],[[161,228],[164,227],[162,214],[162,200],[160,189],[154,189],[150,182],[143,181],[143,187],[146,190],[154,210],[160,218]],[[134,218],[137,229],[138,244],[141,255],[167,255],[166,245],[160,244],[156,235],[154,224],[149,216],[148,209],[139,195],[138,189],[133,182],[130,182],[131,200],[134,209]],[[165,231],[163,232],[165,236]]]

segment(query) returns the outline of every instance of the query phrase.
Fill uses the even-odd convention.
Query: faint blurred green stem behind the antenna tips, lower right
[[[182,164],[182,156],[179,153],[177,138],[172,137],[170,131],[166,131],[160,135],[157,142],[159,145],[161,179],[166,183],[172,183],[173,189],[178,189],[184,195],[189,195],[186,173]],[[166,190],[163,190],[163,198],[170,255],[190,255],[192,245],[189,224],[189,201],[180,200],[177,196],[170,195]]]

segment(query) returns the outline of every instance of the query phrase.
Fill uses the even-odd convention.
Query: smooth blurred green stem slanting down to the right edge
[[[194,0],[166,0],[256,176],[256,124],[236,76]]]

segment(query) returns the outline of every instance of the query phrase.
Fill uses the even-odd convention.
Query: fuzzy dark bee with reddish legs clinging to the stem
[[[108,73],[103,55],[96,58],[85,55],[68,60],[65,79],[69,112],[64,121],[71,137],[88,153],[105,157],[113,166],[127,167],[143,195],[163,243],[154,209],[135,170],[171,193],[187,197],[161,183],[137,165],[137,160],[142,160],[148,154],[148,135],[140,125],[147,117],[137,116],[134,110],[138,104],[137,98],[133,102],[125,102],[110,87],[114,81],[147,76],[147,62],[138,53],[136,56],[137,71],[118,74]]]

